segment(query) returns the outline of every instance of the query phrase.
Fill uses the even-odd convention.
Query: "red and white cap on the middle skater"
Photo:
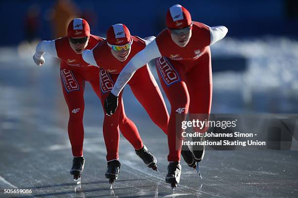
[[[107,41],[110,45],[123,46],[131,41],[129,29],[121,23],[112,25],[107,32]]]

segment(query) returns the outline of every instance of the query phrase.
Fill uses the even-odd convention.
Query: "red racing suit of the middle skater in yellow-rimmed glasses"
[[[104,104],[105,99],[109,96],[114,82],[117,80],[123,66],[125,66],[137,52],[146,47],[146,40],[137,36],[131,37],[133,39],[131,51],[127,60],[124,62],[120,62],[112,55],[111,48],[107,45],[106,40],[99,43],[93,50],[85,50],[83,52],[83,58],[87,63],[99,66],[106,71],[105,82],[109,82],[109,85],[103,85],[102,87],[102,89],[105,90],[102,95],[102,104]],[[101,72],[104,72],[104,70],[101,70]],[[145,108],[151,120],[167,134],[169,119],[167,107],[148,65],[146,64],[139,69],[128,84],[130,85],[133,95]],[[119,95],[118,101],[122,103],[122,92]],[[121,109],[117,108],[112,116],[105,114],[104,126],[107,126],[107,129],[105,130],[104,128],[103,131],[107,146],[107,160],[118,158],[118,144],[114,143],[119,142],[119,132],[114,132],[117,131],[120,111]],[[108,131],[111,127],[115,129],[112,132]]]

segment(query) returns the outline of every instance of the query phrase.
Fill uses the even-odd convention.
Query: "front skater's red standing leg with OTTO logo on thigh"
[[[182,129],[179,125],[185,120],[189,106],[189,95],[184,82],[184,67],[164,57],[156,59],[156,67],[162,87],[171,104],[168,122],[168,161],[179,162],[183,139]]]

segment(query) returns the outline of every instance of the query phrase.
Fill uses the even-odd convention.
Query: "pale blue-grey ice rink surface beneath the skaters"
[[[35,66],[31,59],[14,57],[15,51],[1,49],[0,198],[298,197],[298,152],[277,150],[207,150],[200,163],[203,180],[182,160],[181,181],[172,191],[165,182],[168,165],[166,135],[152,123],[129,88],[124,92],[126,113],[137,125],[144,144],[157,157],[160,174],[147,168],[121,136],[121,170],[111,191],[104,176],[107,164],[102,136],[103,112],[88,83],[84,116],[86,163],[82,192],[75,193],[75,182],[69,174],[72,154],[67,134],[68,110],[62,95],[59,67],[53,60],[42,67]],[[154,68],[151,70],[156,72]],[[221,77],[226,76],[228,80],[231,75],[240,78],[237,74],[223,74]],[[253,75],[257,74],[250,73],[250,77]],[[240,112],[243,104],[239,102],[239,87],[223,91],[216,85],[222,84],[223,80],[214,79],[212,111]],[[295,83],[287,83],[293,84],[295,89]],[[296,102],[297,99],[291,99],[289,104]],[[283,108],[297,112],[297,107]],[[266,111],[265,107],[262,111]],[[32,193],[4,194],[4,189],[31,189]]]

